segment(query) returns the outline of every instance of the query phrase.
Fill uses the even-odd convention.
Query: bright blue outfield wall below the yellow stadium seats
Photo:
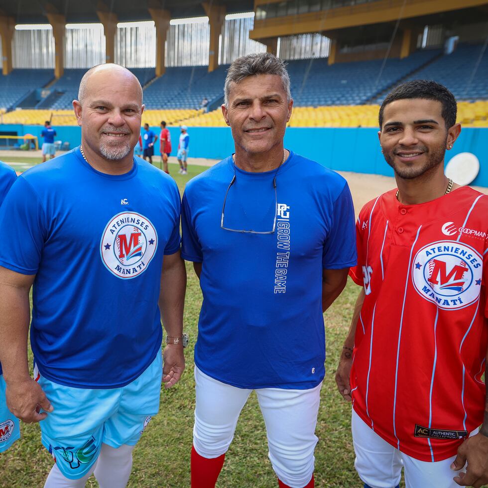
[[[38,137],[43,128],[41,125],[0,125],[0,131]],[[159,127],[151,128],[159,134]],[[80,143],[80,127],[59,126],[55,129],[57,140],[68,141],[71,147]],[[178,127],[169,127],[169,130],[171,155],[175,156],[180,130]],[[285,133],[285,147],[334,170],[393,176],[381,154],[377,132],[375,128],[289,127]],[[188,133],[190,164],[192,157],[223,159],[234,152],[229,127],[189,127]],[[39,138],[39,144],[41,142]],[[478,157],[480,173],[473,185],[488,187],[488,128],[463,128],[454,148],[446,152],[446,164],[460,152],[472,152]],[[155,154],[159,155],[159,142],[156,143]]]

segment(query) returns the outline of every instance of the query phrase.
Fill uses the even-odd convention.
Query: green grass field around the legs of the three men
[[[170,172],[183,193],[185,182],[205,168],[189,166],[188,175]],[[170,390],[162,389],[160,412],[148,425],[133,454],[129,487],[185,488],[190,486],[190,450],[192,446],[193,347],[202,295],[193,267],[187,263],[188,288],[185,305],[185,330],[191,344],[186,349],[187,367],[181,381]],[[334,373],[342,342],[349,327],[358,287],[348,282],[342,295],[325,314],[327,334],[326,376],[316,434],[316,487],[362,487],[354,470],[354,452],[350,433],[350,404],[337,392]],[[31,358],[30,358],[31,359]],[[0,455],[0,487],[42,487],[51,469],[52,459],[40,442],[38,424],[22,424],[22,438]],[[92,477],[87,486],[98,486]],[[267,458],[264,423],[252,394],[245,405],[236,435],[227,454],[219,488],[277,487],[276,477]]]

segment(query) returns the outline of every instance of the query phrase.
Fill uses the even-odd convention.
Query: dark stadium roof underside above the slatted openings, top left
[[[171,18],[207,15],[199,0],[0,0],[0,15],[13,17],[20,24],[48,23],[47,13],[64,15],[66,22],[100,22],[98,11],[115,14],[120,22],[152,20],[149,8],[168,10]],[[252,11],[253,0],[210,0],[226,7],[227,13]]]

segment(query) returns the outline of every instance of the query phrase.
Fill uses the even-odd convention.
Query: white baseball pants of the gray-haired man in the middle
[[[251,389],[211,378],[195,366],[196,407],[193,445],[200,456],[227,452]],[[306,486],[314,471],[320,388],[255,390],[266,425],[268,457],[276,476],[292,488]]]

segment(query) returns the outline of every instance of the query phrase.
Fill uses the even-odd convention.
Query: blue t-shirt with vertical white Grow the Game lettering
[[[322,270],[356,264],[349,187],[292,152],[277,171],[235,171],[224,227],[269,232],[276,214],[276,230],[221,229],[232,157],[187,184],[182,255],[202,262],[195,364],[241,388],[313,388],[325,373]]]

